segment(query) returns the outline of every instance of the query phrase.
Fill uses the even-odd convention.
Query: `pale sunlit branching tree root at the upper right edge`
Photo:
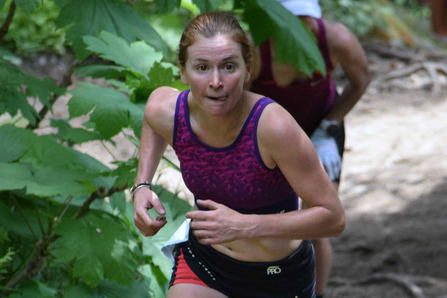
[[[433,88],[431,89],[432,94],[438,93],[441,90],[441,86],[438,80],[438,72],[442,72],[444,75],[447,76],[447,65],[445,63],[436,63],[436,62],[414,63],[412,65],[409,65],[408,67],[398,69],[395,71],[390,71],[384,76],[380,76],[372,83],[372,85],[375,85],[379,88],[399,87],[408,89],[408,87],[402,83],[385,84],[385,82],[403,76],[409,76],[421,69],[426,70],[431,79],[431,84],[433,84]]]

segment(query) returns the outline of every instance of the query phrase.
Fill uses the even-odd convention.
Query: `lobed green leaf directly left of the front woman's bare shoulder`
[[[70,91],[73,94],[68,101],[70,118],[85,115],[94,108],[90,121],[95,123],[96,130],[105,139],[110,139],[128,126],[137,136],[141,134],[144,111],[132,104],[124,94],[93,84],[79,83],[79,86]]]

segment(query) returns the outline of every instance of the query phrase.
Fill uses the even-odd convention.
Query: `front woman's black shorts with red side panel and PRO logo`
[[[315,298],[315,255],[303,240],[291,256],[276,262],[243,262],[190,239],[174,248],[169,286],[193,283],[230,298]]]

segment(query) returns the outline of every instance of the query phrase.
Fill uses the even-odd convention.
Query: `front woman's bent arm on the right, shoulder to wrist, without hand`
[[[252,215],[248,235],[292,239],[334,237],[345,228],[342,204],[318,155],[295,119],[278,104],[270,104],[258,125],[261,156],[276,164],[308,209],[285,214]]]

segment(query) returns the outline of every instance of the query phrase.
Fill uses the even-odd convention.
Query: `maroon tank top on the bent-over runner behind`
[[[326,76],[314,72],[312,78],[307,80],[294,81],[285,87],[278,86],[273,79],[270,42],[267,40],[260,46],[260,75],[253,81],[250,88],[250,91],[270,97],[287,109],[308,135],[313,133],[321,119],[329,112],[336,97],[335,84],[330,79],[333,66],[326,42],[325,25],[321,19],[316,20],[318,23],[317,46],[325,60]]]

